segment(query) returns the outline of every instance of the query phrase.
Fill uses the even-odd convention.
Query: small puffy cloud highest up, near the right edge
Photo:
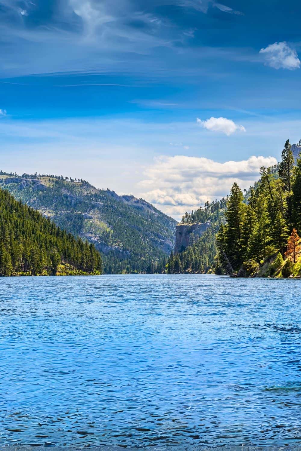
[[[264,64],[274,69],[299,69],[300,60],[296,50],[287,45],[285,41],[270,44],[259,51],[264,55]]]

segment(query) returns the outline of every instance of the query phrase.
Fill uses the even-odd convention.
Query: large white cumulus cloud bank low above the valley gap
[[[204,157],[160,156],[144,171],[141,195],[177,219],[209,200],[226,196],[236,181],[241,189],[259,179],[261,166],[277,163],[271,156],[219,163]],[[155,187],[155,188],[154,188]]]

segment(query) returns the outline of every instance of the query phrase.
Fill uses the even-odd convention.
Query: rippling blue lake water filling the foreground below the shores
[[[300,444],[300,287],[1,278],[0,444]]]

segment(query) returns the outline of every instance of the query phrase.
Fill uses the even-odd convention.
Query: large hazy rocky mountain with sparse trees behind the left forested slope
[[[93,243],[106,273],[160,267],[174,249],[176,221],[143,199],[55,175],[0,172],[0,187]]]

